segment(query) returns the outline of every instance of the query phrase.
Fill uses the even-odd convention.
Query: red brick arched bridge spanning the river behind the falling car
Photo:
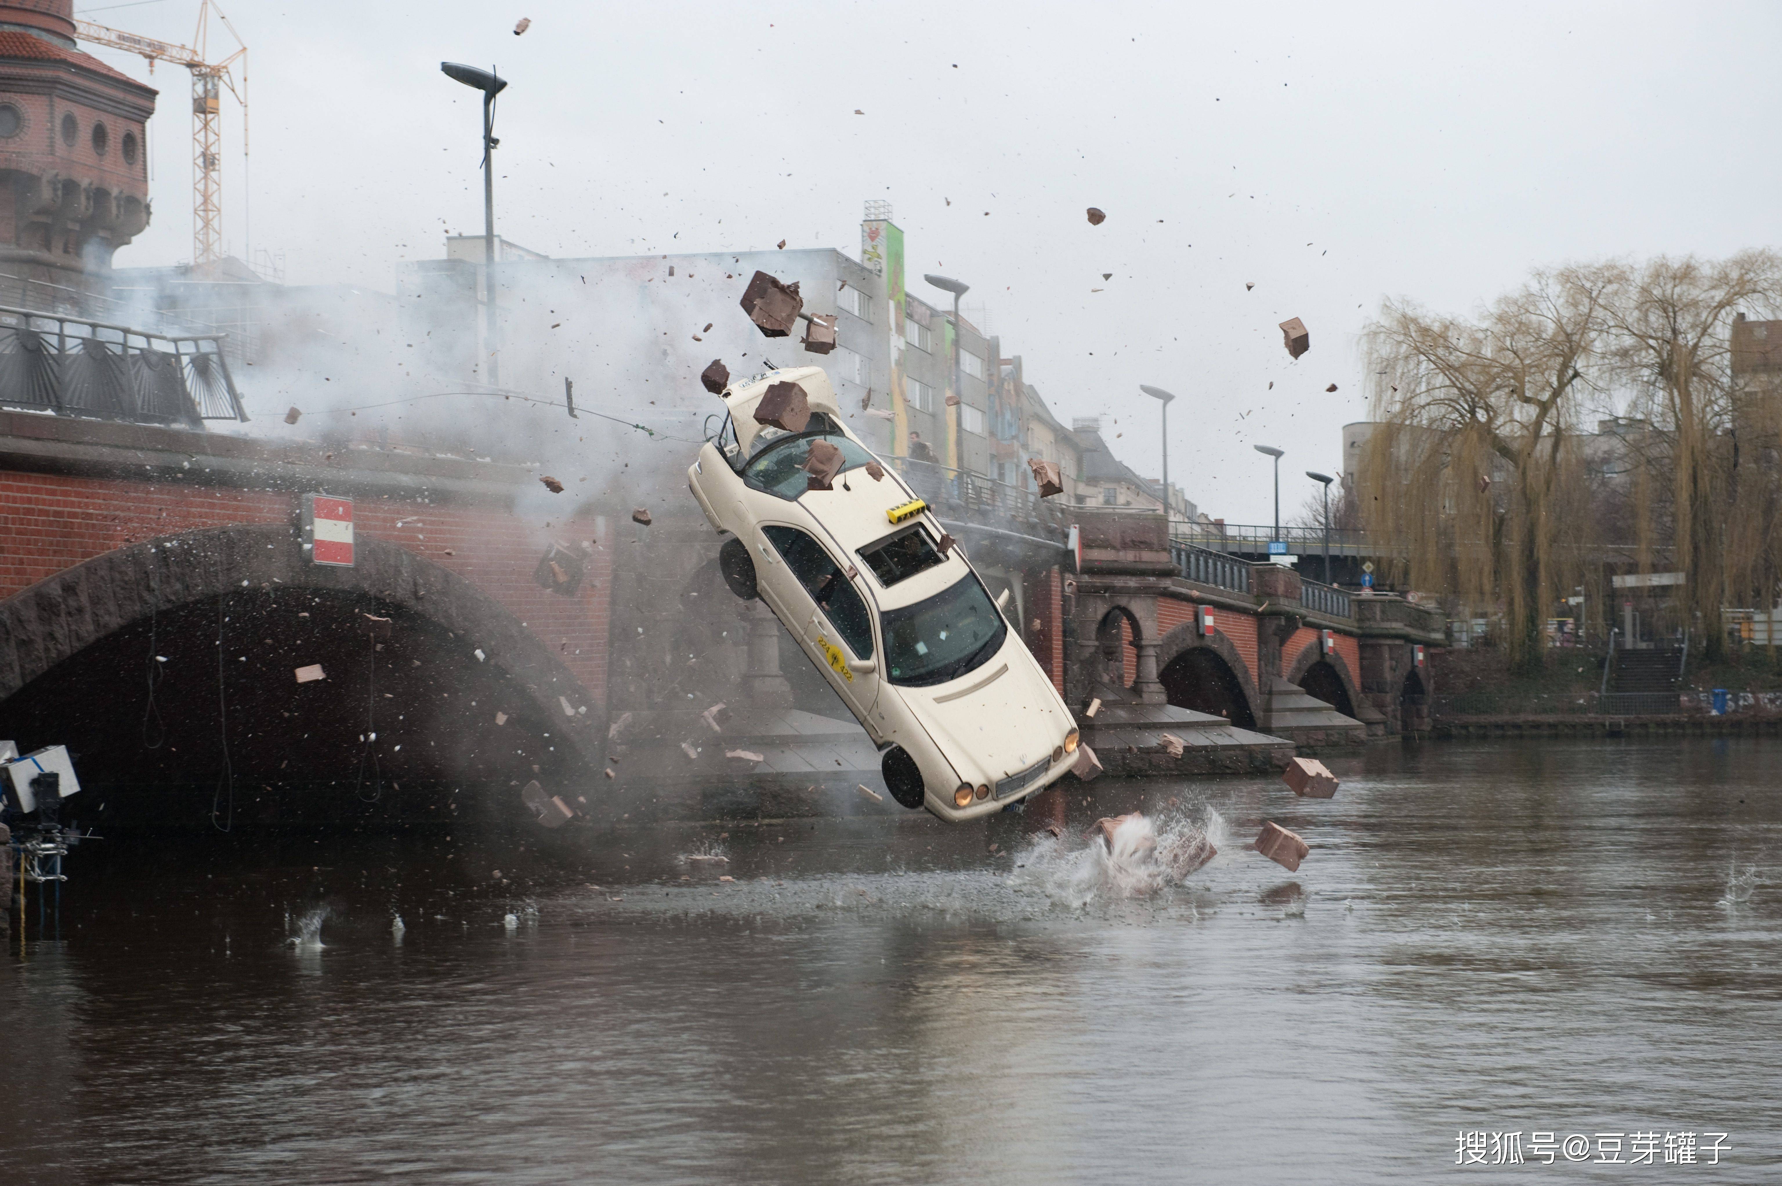
[[[355,501],[355,567],[310,564],[305,494]],[[1176,704],[1303,745],[1427,728],[1415,647],[1442,622],[1426,608],[1171,546],[1157,515],[953,494],[943,519],[1018,594],[1010,614],[1078,708]],[[602,815],[627,781],[681,778],[652,738],[747,788],[766,772],[725,765],[699,710],[839,704],[759,606],[723,594],[686,499],[652,528],[611,501],[474,457],[0,412],[0,737],[69,744],[110,824],[503,815],[511,803],[458,792],[531,778],[611,788]],[[536,578],[552,544],[581,564],[568,596]],[[326,678],[296,683],[310,663]],[[601,779],[625,742],[634,758]],[[788,762],[800,788],[814,765],[836,774]],[[839,765],[855,779],[871,762]]]

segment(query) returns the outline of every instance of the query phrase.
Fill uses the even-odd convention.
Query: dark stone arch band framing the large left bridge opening
[[[130,544],[0,601],[0,703],[86,647],[148,619],[244,587],[351,592],[429,619],[526,690],[584,762],[597,762],[599,704],[588,688],[501,603],[469,580],[381,540],[355,544],[355,567],[308,564],[294,526],[228,526]]]

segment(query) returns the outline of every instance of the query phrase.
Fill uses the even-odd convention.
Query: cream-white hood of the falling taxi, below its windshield
[[[996,674],[1001,672],[1001,674]],[[1009,633],[996,658],[932,688],[898,687],[911,713],[946,749],[959,778],[977,783],[1018,774],[1075,728],[1051,681]]]

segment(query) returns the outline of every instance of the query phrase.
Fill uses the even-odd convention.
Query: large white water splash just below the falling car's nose
[[[1203,869],[1224,835],[1224,819],[1212,808],[1203,808],[1199,820],[1185,813],[1153,820],[1133,811],[1101,820],[1087,840],[1041,833],[1016,861],[1010,883],[1071,910],[1096,899],[1148,897]]]

